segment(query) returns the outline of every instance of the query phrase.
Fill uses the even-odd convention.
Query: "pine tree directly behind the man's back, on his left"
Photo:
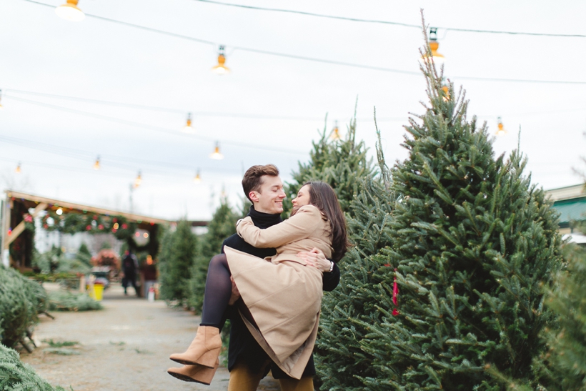
[[[222,251],[224,239],[236,232],[236,222],[239,217],[240,215],[234,212],[228,204],[227,198],[222,197],[219,207],[209,221],[208,231],[200,240],[201,245],[192,266],[192,277],[189,280],[189,292],[187,292],[188,305],[197,312],[201,312],[204,304],[209,260]]]

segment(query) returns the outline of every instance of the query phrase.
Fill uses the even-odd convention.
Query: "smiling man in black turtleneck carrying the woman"
[[[283,182],[279,178],[277,167],[272,164],[250,167],[242,179],[242,188],[244,194],[252,202],[249,216],[252,217],[254,225],[268,228],[282,222],[283,199],[287,196],[283,191]],[[275,249],[252,247],[237,234],[224,240],[222,252],[224,252],[224,246],[262,258],[271,257],[277,253]],[[327,261],[323,254],[306,254],[305,257],[308,264],[314,264],[316,267],[319,265],[324,271],[324,290],[331,291],[337,287],[339,268],[334,262]],[[257,390],[260,380],[269,370],[272,371],[273,377],[279,380],[283,391],[312,391],[315,375],[313,356],[309,359],[300,380],[285,375],[254,340],[235,307],[232,307],[231,313],[227,315],[232,324],[228,349],[228,370],[230,371],[228,391]]]

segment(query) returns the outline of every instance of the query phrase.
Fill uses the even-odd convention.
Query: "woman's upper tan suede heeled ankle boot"
[[[213,368],[222,348],[219,329],[212,326],[199,326],[197,335],[184,353],[174,353],[169,358],[184,365],[203,365]]]

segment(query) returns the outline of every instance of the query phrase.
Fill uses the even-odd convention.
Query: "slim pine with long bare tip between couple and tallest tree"
[[[377,376],[372,367],[373,355],[362,350],[360,338],[368,331],[361,322],[378,322],[376,302],[370,291],[379,284],[374,272],[383,267],[379,252],[391,244],[389,223],[392,219],[394,194],[389,169],[382,149],[377,144],[379,174],[362,178],[357,196],[349,207],[348,232],[354,246],[339,262],[341,279],[322,300],[316,362],[320,390],[364,390],[355,375]],[[376,277],[375,277],[376,276]],[[374,278],[373,278],[374,277]],[[350,322],[350,320],[354,320]]]

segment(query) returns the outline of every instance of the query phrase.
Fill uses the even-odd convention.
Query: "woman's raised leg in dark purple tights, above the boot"
[[[232,295],[232,281],[230,281],[228,259],[226,254],[219,254],[209,261],[207,269],[202,326],[220,328],[230,295]]]

